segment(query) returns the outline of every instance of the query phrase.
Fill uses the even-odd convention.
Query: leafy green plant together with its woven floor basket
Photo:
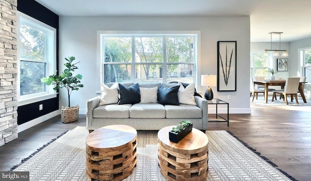
[[[77,121],[79,117],[79,105],[77,106],[70,106],[70,94],[73,90],[79,90],[79,88],[83,87],[83,84],[80,84],[80,80],[82,79],[82,75],[78,74],[73,76],[72,72],[75,69],[78,69],[76,66],[77,63],[72,63],[75,60],[75,57],[69,57],[69,59],[65,58],[67,61],[64,63],[66,69],[62,72],[62,75],[57,75],[56,71],[53,75],[49,77],[41,78],[41,82],[44,82],[46,85],[56,85],[53,90],[59,90],[61,88],[65,88],[68,92],[68,106],[64,108],[62,106],[62,122],[69,123],[73,121]]]

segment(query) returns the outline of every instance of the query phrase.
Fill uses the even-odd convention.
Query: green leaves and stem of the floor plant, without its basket
[[[62,75],[57,75],[57,72],[53,75],[50,75],[49,77],[41,78],[41,82],[44,82],[46,85],[55,85],[56,87],[53,88],[53,90],[59,90],[61,88],[65,88],[68,92],[68,106],[70,107],[70,94],[73,90],[79,90],[79,88],[83,87],[83,84],[81,84],[82,75],[72,75],[72,72],[74,72],[75,69],[78,69],[76,66],[77,63],[73,63],[75,60],[75,57],[69,57],[69,59],[65,58],[67,61],[64,63],[66,66],[66,69],[64,72],[62,72]]]

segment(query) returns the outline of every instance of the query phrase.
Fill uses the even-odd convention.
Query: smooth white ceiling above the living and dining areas
[[[251,42],[311,37],[311,0],[36,0],[60,16],[250,15]],[[279,36],[272,35],[278,42]]]

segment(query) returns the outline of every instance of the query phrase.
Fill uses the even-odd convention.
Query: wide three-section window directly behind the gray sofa
[[[195,34],[101,34],[102,82],[194,82]]]

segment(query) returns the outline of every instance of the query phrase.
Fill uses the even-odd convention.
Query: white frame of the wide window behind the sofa
[[[102,51],[101,51],[101,43],[102,43],[102,35],[105,35],[105,36],[131,36],[131,35],[140,35],[140,36],[143,36],[143,37],[148,37],[150,35],[152,35],[152,37],[155,37],[156,35],[158,36],[163,36],[163,35],[167,35],[169,37],[181,37],[181,36],[189,36],[189,35],[193,35],[194,36],[194,46],[196,46],[196,48],[194,49],[194,59],[193,59],[193,65],[194,65],[194,77],[193,77],[193,81],[195,83],[195,85],[198,85],[198,82],[201,81],[200,80],[200,76],[198,75],[201,75],[201,70],[198,69],[198,67],[200,67],[200,53],[201,53],[201,42],[200,42],[200,39],[201,39],[201,31],[196,31],[196,30],[185,30],[185,31],[180,31],[180,30],[169,30],[169,31],[162,31],[162,30],[159,30],[159,31],[119,31],[119,30],[116,30],[116,31],[104,31],[104,30],[98,30],[97,31],[97,51],[98,51],[98,56],[97,56],[97,64],[100,65],[100,66],[97,66],[97,75],[100,75],[100,83],[103,82],[103,54],[102,54]],[[166,39],[164,39],[163,41],[166,41]],[[163,43],[163,49],[165,50],[166,47],[165,47],[165,43]],[[132,45],[132,48],[133,45]],[[132,51],[133,52],[133,51]],[[135,53],[135,52],[134,52]],[[163,52],[163,56],[165,57],[165,54],[166,54],[166,51]],[[163,57],[163,58],[164,58]],[[132,56],[132,59],[135,58],[135,56],[133,57]],[[131,64],[131,67],[132,68],[135,68],[135,66],[133,66],[132,64],[135,64],[135,60],[133,60],[130,64]],[[165,58],[163,60],[163,63],[157,63],[157,62],[153,62],[152,64],[163,64],[163,72],[167,72],[166,70],[166,66],[167,64],[182,64],[183,62],[166,62]],[[117,63],[118,64],[118,63]],[[124,64],[124,62],[122,62],[122,64]],[[192,64],[192,62],[191,62]],[[135,71],[132,71],[132,74],[135,74]],[[135,75],[132,75],[132,78],[135,77]],[[167,81],[167,74],[163,74],[163,78],[162,78],[162,81],[163,82],[166,82]]]

